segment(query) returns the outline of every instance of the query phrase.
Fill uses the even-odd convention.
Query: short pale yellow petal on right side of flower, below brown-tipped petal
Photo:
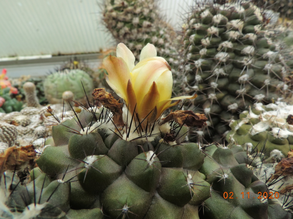
[[[156,79],[156,84],[160,93],[160,101],[170,99],[173,87],[172,72],[169,69],[164,71],[161,76]]]

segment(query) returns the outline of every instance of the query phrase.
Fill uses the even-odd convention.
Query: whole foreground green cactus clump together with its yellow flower
[[[172,100],[184,97],[169,99],[171,71],[163,58],[154,56],[154,46],[142,50],[144,59],[136,66],[130,54],[119,44],[121,56],[104,60],[107,82],[123,102],[96,88],[94,100],[102,108],[83,109],[72,119],[57,120],[53,141],[35,160],[38,167],[30,171],[30,179],[20,184],[8,171],[2,176],[11,185],[0,187],[1,214],[6,218],[16,214],[50,218],[50,213],[53,218],[199,219],[203,217],[198,209],[203,207],[204,218],[292,218],[282,204],[257,199],[257,193],[267,192],[268,187],[253,174],[259,162],[253,162],[242,147],[185,141],[185,124],[204,126],[203,114],[179,110],[161,117],[164,108],[174,105]],[[128,72],[132,69],[134,75]],[[154,73],[145,75],[145,71]],[[226,200],[225,192],[234,192],[239,199]],[[241,199],[241,192],[255,199]]]

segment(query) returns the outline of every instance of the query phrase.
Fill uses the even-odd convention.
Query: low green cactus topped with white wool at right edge
[[[231,131],[226,140],[251,149],[262,147],[267,156],[280,161],[293,148],[293,105],[286,102],[253,107],[230,122]]]

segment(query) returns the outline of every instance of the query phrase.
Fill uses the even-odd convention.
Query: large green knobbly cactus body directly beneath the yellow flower
[[[52,127],[54,143],[45,146],[36,160],[38,168],[30,172],[31,182],[26,188],[17,186],[9,207],[23,215],[26,206],[38,208],[42,215],[48,206],[56,206],[60,218],[81,212],[94,215],[91,218],[199,218],[198,205],[209,198],[210,186],[198,172],[205,154],[196,143],[170,145],[159,141],[161,134],[156,140],[149,136],[149,143],[145,137],[126,141],[111,131],[103,132],[103,140],[99,129],[111,124],[99,114],[100,120],[92,121],[93,114],[87,112],[79,114],[82,129],[77,118]],[[185,131],[180,129],[178,141]]]

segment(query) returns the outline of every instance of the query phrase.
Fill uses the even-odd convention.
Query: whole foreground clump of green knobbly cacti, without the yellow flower
[[[91,108],[53,126],[27,185],[2,176],[2,218],[292,218],[275,196],[263,198],[275,191],[242,147],[184,143],[186,127],[167,123],[129,141],[109,117]]]

